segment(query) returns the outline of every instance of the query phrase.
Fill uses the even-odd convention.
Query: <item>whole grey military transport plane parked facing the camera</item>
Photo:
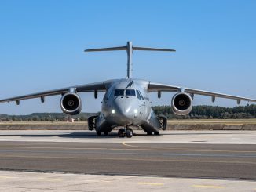
[[[85,85],[75,85],[63,89],[55,89],[46,92],[38,92],[25,96],[16,96],[0,100],[0,103],[15,101],[17,105],[20,100],[40,98],[41,102],[45,102],[46,96],[61,95],[60,108],[65,114],[75,115],[82,110],[82,100],[79,92],[94,92],[97,98],[98,92],[105,92],[102,101],[101,114],[92,116],[88,119],[90,130],[96,130],[97,135],[108,135],[115,127],[121,127],[118,131],[119,137],[132,137],[133,127],[141,127],[148,135],[159,134],[159,130],[166,129],[167,119],[165,116],[156,116],[152,110],[148,97],[148,92],[157,92],[161,97],[161,92],[176,92],[171,100],[171,106],[174,114],[185,115],[192,110],[192,100],[194,95],[211,96],[212,101],[216,97],[240,101],[256,102],[256,100],[221,94],[217,92],[207,92],[199,89],[183,88],[175,85],[165,85],[162,83],[151,82],[132,78],[132,54],[135,50],[143,51],[167,51],[174,52],[174,49],[158,49],[147,47],[136,47],[132,42],[127,42],[126,46],[86,49],[85,52],[95,51],[115,51],[125,50],[127,52],[127,76],[122,79],[112,79],[104,82],[95,82]]]

